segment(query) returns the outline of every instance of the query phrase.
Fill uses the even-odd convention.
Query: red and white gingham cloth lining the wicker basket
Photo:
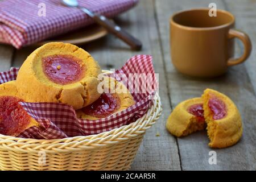
[[[8,72],[0,72],[0,84],[15,80],[18,70],[18,68],[11,68]],[[149,88],[146,93],[132,93],[135,100],[133,106],[110,115],[109,117],[94,121],[77,119],[73,107],[65,104],[20,102],[28,114],[40,123],[41,127],[31,127],[20,134],[19,137],[57,139],[92,135],[127,125],[134,122],[135,119],[142,117],[151,106],[152,98],[155,95],[156,89],[158,89],[158,81],[156,80],[157,77],[152,65],[152,56],[133,56],[121,69],[117,70],[115,74],[112,73],[110,76],[114,77],[118,75],[117,73],[123,73],[127,77],[129,77],[131,73],[146,73],[147,75],[152,75],[152,80],[147,82],[147,84],[151,84],[152,88]],[[119,80],[119,78],[120,77],[115,77],[117,80]],[[130,90],[129,85],[130,84],[127,84],[127,88]],[[136,85],[142,90],[145,84],[137,82]]]

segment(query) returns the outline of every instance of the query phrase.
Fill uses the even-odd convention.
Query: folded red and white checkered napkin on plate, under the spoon
[[[113,17],[135,6],[138,0],[80,0],[94,13]],[[43,8],[46,7],[46,11]],[[46,13],[44,16],[44,12]],[[93,23],[81,10],[60,0],[5,0],[0,2],[0,43],[16,48],[34,44]]]

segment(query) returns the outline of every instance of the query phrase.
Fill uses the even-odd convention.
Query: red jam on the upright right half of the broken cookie
[[[213,119],[218,120],[226,116],[226,105],[216,97],[210,98],[208,106],[213,113]]]

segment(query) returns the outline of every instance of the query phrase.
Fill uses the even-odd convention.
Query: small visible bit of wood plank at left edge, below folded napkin
[[[8,71],[11,67],[14,48],[0,44],[0,71]]]

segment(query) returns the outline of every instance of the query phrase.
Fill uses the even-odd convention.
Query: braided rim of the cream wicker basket
[[[117,129],[106,131],[100,134],[88,136],[76,136],[63,139],[27,139],[10,137],[0,134],[0,149],[18,150],[27,152],[28,150],[48,152],[70,152],[79,150],[89,150],[97,147],[106,147],[109,144],[116,144],[137,137],[154,125],[155,121],[162,113],[162,105],[159,94],[155,94],[152,106],[141,118],[129,125],[121,126]],[[52,150],[54,148],[54,150]]]

